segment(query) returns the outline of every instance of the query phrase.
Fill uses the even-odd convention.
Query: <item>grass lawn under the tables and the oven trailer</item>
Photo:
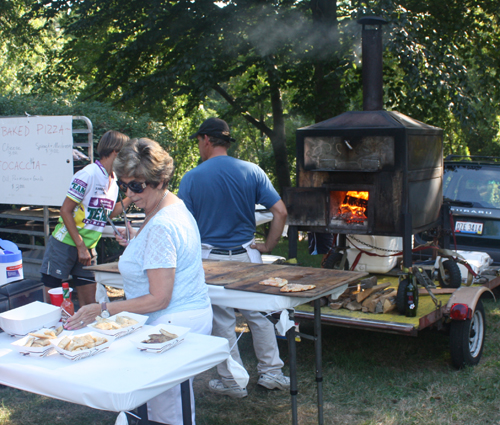
[[[287,257],[286,243],[273,252]],[[321,256],[307,254],[299,244],[301,265],[319,265]],[[417,337],[323,327],[323,388],[325,424],[500,424],[500,308],[484,302],[486,344],[480,364],[455,370],[450,363],[449,338],[435,331]],[[291,423],[290,397],[256,385],[257,360],[244,323],[240,351],[250,373],[248,397],[233,400],[207,390],[215,369],[195,379],[197,424],[281,425]],[[312,324],[301,323],[312,333]],[[288,347],[279,340],[288,373]],[[300,424],[317,423],[314,343],[297,344],[298,411]],[[103,356],[104,358],[104,356]],[[43,361],[43,359],[41,359]],[[113,425],[116,414],[51,400],[11,388],[1,388],[0,425]]]

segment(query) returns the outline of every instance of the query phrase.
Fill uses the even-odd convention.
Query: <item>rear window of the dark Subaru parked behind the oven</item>
[[[451,201],[500,208],[500,167],[491,169],[476,165],[447,165],[443,195]]]

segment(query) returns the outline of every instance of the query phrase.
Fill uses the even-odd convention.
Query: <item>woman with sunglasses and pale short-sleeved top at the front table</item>
[[[68,328],[79,329],[98,315],[129,311],[148,315],[147,324],[185,326],[210,335],[212,308],[200,234],[184,203],[167,189],[174,170],[172,158],[155,141],[133,139],[120,151],[114,170],[120,188],[146,214],[136,232],[129,227],[128,243],[124,231],[117,235],[126,245],[118,266],[127,299],[85,306],[70,318]],[[194,423],[193,397],[191,404]],[[158,423],[182,424],[180,386],[152,399],[148,416]]]

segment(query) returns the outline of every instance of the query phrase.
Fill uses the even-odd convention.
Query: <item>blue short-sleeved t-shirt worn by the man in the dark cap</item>
[[[178,196],[196,219],[201,241],[226,249],[254,237],[255,204],[271,208],[280,200],[259,166],[226,155],[186,173]]]

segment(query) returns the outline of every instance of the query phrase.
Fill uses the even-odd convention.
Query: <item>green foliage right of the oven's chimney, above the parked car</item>
[[[392,1],[385,104],[444,128],[445,154],[498,155],[498,14],[491,1]]]

